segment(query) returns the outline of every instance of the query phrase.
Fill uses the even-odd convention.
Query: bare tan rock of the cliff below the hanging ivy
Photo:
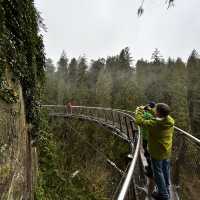
[[[0,199],[31,199],[32,160],[35,152],[30,145],[20,84],[9,84],[17,92],[17,103],[0,99]]]

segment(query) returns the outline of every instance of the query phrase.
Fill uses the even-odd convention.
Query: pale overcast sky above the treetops
[[[200,0],[35,0],[48,28],[44,34],[47,57],[56,62],[62,50],[68,57],[89,60],[115,55],[126,46],[132,57],[150,59],[155,48],[164,58],[187,60],[200,50]]]

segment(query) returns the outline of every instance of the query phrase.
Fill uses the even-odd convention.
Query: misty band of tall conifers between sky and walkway
[[[91,60],[69,60],[63,51],[57,65],[46,60],[43,104],[104,106],[134,111],[150,101],[170,105],[176,125],[200,137],[199,89],[200,58],[196,50],[187,63],[181,58],[164,60],[158,49],[152,60],[133,57],[126,47],[118,55]]]

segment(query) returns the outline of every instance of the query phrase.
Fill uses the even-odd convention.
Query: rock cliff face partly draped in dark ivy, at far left
[[[38,131],[36,104],[45,78],[42,19],[34,5],[0,0],[0,200],[33,198],[37,162],[29,132]]]

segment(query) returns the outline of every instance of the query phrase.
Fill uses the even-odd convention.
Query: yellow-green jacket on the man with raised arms
[[[148,148],[152,158],[156,160],[169,159],[172,149],[172,137],[174,132],[174,119],[166,118],[144,119],[143,111],[136,110],[136,123],[148,128]]]

